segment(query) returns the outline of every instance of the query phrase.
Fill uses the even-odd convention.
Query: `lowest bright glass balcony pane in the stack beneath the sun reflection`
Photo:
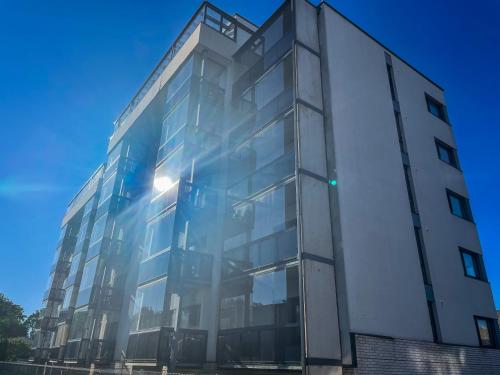
[[[133,330],[140,331],[161,326],[166,286],[165,278],[137,288],[132,315]]]

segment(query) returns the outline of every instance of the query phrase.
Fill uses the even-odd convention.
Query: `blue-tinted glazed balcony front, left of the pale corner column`
[[[229,81],[227,59],[193,51],[147,130],[110,148],[78,227],[64,228],[78,234],[60,359],[110,361],[126,330],[132,362],[300,362],[291,7],[251,36],[205,6],[201,22],[249,38],[241,69]]]

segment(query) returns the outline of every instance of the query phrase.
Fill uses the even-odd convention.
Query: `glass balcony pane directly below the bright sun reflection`
[[[174,233],[174,220],[175,210],[161,215],[158,219],[148,224],[144,258],[170,248]]]

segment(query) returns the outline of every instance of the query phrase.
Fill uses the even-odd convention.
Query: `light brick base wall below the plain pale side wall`
[[[344,375],[500,375],[500,350],[355,335],[357,367]]]

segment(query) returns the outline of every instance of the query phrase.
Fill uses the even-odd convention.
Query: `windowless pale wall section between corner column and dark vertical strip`
[[[328,6],[320,17],[350,329],[432,340],[384,49]]]

